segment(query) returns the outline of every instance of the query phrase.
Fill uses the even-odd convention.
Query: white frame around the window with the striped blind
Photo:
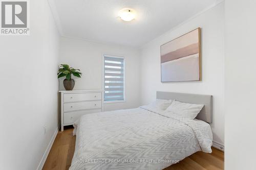
[[[104,57],[110,57],[110,58],[118,58],[118,59],[123,59],[123,100],[121,101],[105,101],[105,76],[104,76],[104,66],[105,66],[105,58]],[[112,54],[102,54],[102,89],[103,89],[103,104],[111,104],[111,103],[124,103],[126,102],[125,98],[125,57],[123,55],[112,55]]]

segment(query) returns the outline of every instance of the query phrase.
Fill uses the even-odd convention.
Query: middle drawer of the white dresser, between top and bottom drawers
[[[83,109],[97,109],[101,108],[101,101],[65,103],[63,107],[64,112]]]

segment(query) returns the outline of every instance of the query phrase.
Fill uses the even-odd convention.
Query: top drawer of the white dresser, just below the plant
[[[64,102],[79,102],[79,101],[93,101],[93,100],[101,100],[101,92],[63,94]]]

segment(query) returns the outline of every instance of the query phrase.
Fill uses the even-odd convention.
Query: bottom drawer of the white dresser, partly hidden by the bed
[[[85,111],[76,111],[76,112],[68,112],[63,114],[63,123],[64,124],[72,124],[74,123],[80,116],[84,114],[90,113],[98,113],[101,112],[101,109],[96,110],[85,110]]]

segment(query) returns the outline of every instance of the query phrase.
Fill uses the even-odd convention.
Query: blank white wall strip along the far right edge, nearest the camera
[[[225,1],[225,169],[255,169],[256,1]]]

